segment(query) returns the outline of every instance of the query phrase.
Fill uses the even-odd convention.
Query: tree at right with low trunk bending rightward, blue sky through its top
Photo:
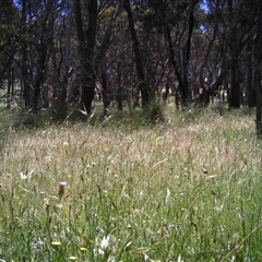
[[[209,105],[211,96],[222,86],[229,71],[226,31],[222,29],[224,4],[221,0],[202,1],[204,13],[199,27],[200,36],[204,39],[203,58],[199,62],[201,94],[193,100],[205,105]]]

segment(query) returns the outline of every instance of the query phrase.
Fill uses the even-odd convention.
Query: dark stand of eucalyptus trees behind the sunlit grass
[[[259,0],[1,1],[2,102],[64,120],[95,100],[122,110],[257,107],[261,124]],[[216,99],[217,100],[217,99]],[[148,107],[150,106],[150,107]]]

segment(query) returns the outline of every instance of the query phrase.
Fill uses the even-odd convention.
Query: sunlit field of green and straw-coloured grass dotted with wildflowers
[[[10,131],[0,261],[262,261],[262,145],[243,111]]]

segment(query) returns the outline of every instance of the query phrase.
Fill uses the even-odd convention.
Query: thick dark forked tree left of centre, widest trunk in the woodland
[[[86,114],[91,114],[97,82],[97,69],[102,67],[110,46],[112,28],[120,9],[114,0],[102,2],[72,0],[72,3],[79,41],[81,104]],[[104,94],[106,94],[106,84],[103,86]],[[104,102],[105,107],[107,107],[108,103],[105,99]]]

